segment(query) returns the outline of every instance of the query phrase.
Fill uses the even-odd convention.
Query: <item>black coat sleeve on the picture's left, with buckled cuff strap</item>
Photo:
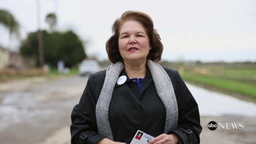
[[[95,107],[95,83],[93,75],[90,75],[79,101],[71,113],[71,144],[95,144],[104,138],[98,134]]]

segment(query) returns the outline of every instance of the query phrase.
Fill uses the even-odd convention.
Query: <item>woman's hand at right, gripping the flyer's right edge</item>
[[[173,134],[161,134],[158,137],[151,140],[148,144],[179,144],[181,138],[179,135]]]

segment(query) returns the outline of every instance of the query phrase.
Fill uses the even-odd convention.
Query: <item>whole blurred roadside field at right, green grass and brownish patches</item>
[[[178,70],[181,77],[189,83],[256,100],[256,63],[201,63],[198,61],[162,62],[162,64]]]

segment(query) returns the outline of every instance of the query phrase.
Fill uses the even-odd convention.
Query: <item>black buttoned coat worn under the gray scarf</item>
[[[178,129],[176,133],[185,144],[199,143],[202,131],[198,105],[186,84],[175,70],[164,68],[169,75],[178,104]],[[120,74],[127,76],[125,70]],[[89,76],[87,85],[79,101],[71,113],[71,144],[96,143],[104,138],[98,134],[95,107],[99,98],[106,70]],[[140,93],[138,84],[127,80],[122,85],[115,85],[109,105],[109,123],[114,141],[129,144],[137,132],[141,130],[153,137],[164,131],[165,107],[156,93],[153,79],[147,68]]]

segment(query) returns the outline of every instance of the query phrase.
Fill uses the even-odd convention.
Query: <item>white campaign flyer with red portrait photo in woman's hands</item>
[[[151,135],[148,135],[145,132],[138,130],[130,144],[147,144],[153,138],[154,137],[152,137]]]

